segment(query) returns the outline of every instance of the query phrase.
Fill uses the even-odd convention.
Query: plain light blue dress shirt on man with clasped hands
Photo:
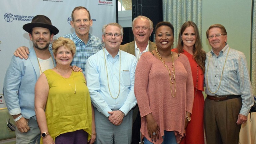
[[[121,53],[121,80],[120,94],[119,91],[119,56]],[[103,50],[90,56],[86,64],[85,77],[87,87],[90,92],[92,104],[103,115],[108,117],[108,111],[120,110],[125,115],[136,105],[137,101],[134,95],[134,77],[137,65],[136,57],[124,51],[119,51],[113,58],[105,49],[105,58],[107,64],[107,72]],[[108,88],[109,82],[109,88]],[[109,89],[114,98],[110,96]]]

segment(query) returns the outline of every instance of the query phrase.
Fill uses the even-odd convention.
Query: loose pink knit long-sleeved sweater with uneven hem
[[[172,62],[166,62],[171,69]],[[171,95],[169,73],[164,64],[150,52],[141,55],[136,67],[134,92],[141,115],[141,133],[148,140],[146,115],[152,113],[160,127],[163,142],[164,130],[175,131],[179,143],[184,135],[186,111],[192,113],[193,79],[188,58],[180,54],[174,61],[176,76],[176,96]],[[173,95],[174,95],[173,84]]]

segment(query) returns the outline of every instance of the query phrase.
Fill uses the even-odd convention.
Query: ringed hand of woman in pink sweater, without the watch
[[[148,127],[148,134],[152,141],[155,141],[159,139],[158,131],[160,131],[160,128],[157,124],[157,122],[154,120],[152,113],[146,115],[147,119],[147,127]]]

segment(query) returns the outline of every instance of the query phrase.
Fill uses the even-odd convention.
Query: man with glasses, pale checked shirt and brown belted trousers
[[[207,144],[238,144],[241,124],[253,105],[252,86],[242,52],[231,49],[223,25],[211,25],[212,50],[205,60],[204,127]]]

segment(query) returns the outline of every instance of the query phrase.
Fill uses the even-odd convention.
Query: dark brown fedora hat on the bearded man
[[[50,20],[50,18],[43,16],[43,15],[37,15],[35,16],[31,23],[27,23],[25,25],[23,25],[23,29],[30,33],[30,30],[33,27],[43,27],[43,28],[48,28],[54,35],[56,35],[57,33],[59,33],[59,29],[55,26],[52,25],[52,22]]]

